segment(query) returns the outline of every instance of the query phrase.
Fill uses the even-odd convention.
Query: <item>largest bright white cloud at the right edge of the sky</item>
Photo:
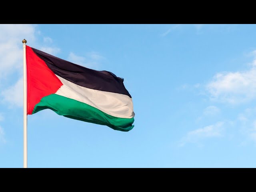
[[[256,60],[254,60],[256,62]],[[256,98],[256,67],[246,71],[217,73],[206,85],[210,98],[238,104]]]

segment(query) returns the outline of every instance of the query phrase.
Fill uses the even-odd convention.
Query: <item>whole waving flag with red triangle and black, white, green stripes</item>
[[[59,115],[129,131],[132,96],[123,79],[26,46],[28,114],[50,109]]]

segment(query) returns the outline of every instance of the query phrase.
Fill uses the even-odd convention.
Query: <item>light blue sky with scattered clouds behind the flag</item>
[[[0,167],[23,166],[22,40],[124,78],[129,132],[43,110],[28,167],[256,167],[256,25],[0,25]]]

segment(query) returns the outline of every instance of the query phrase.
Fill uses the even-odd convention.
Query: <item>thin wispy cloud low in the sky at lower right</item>
[[[223,136],[223,124],[224,122],[217,122],[216,124],[188,132],[182,138],[180,146],[184,146],[186,143],[197,143],[204,138]]]

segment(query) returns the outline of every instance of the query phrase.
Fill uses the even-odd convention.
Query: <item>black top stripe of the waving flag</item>
[[[132,98],[124,87],[124,80],[112,72],[89,69],[35,48],[32,48],[32,50],[39,58],[44,60],[54,74],[70,82],[94,90],[125,94]]]

